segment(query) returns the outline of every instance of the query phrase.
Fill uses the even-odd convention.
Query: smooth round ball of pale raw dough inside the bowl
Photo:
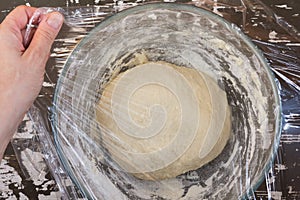
[[[226,94],[204,73],[147,62],[104,88],[96,110],[103,145],[140,179],[161,180],[216,158],[231,132]]]

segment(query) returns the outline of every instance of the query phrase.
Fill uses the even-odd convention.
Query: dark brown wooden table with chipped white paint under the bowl
[[[126,3],[126,1],[124,1]],[[190,1],[185,1],[190,2]],[[194,3],[210,1],[194,1]],[[211,1],[212,2],[212,1]],[[228,3],[223,0],[218,2]],[[233,0],[232,2],[240,2]],[[246,2],[246,1],[245,1]],[[256,2],[247,1],[247,2]],[[17,5],[27,4],[35,7],[53,6],[86,6],[97,4],[114,4],[111,0],[57,0],[57,1],[38,1],[38,0],[1,0],[0,1],[0,21]],[[116,3],[117,4],[117,3]],[[251,4],[249,4],[251,5]],[[300,1],[298,0],[265,0],[264,5],[278,16],[282,16],[289,24],[300,30]],[[252,9],[255,9],[254,7]],[[268,10],[267,10],[268,11]],[[266,11],[266,12],[267,12]],[[244,22],[241,18],[234,17],[226,11],[228,15],[224,17],[233,23],[236,23],[245,29],[254,42],[262,48],[266,57],[270,60],[271,67],[281,82],[280,74],[290,78],[295,84],[294,88],[287,84],[284,85],[285,92],[282,92],[283,113],[289,127],[284,127],[278,154],[275,158],[274,165],[269,174],[266,174],[265,181],[255,192],[257,199],[274,199],[274,200],[299,200],[300,199],[300,41],[294,42],[294,45],[286,45],[289,42],[271,41],[276,40],[276,32],[272,32],[272,26],[260,23],[259,21]],[[247,14],[255,12],[249,8]],[[246,20],[250,20],[247,18]],[[274,20],[274,19],[270,19]],[[257,23],[257,25],[255,25]],[[252,24],[252,27],[249,26]],[[247,28],[248,26],[248,28]],[[269,30],[266,32],[266,30]],[[273,34],[273,35],[272,35]],[[279,33],[280,34],[280,33]],[[268,41],[275,45],[275,50],[284,50],[280,54],[282,58],[274,59],[272,45],[265,45]],[[277,48],[278,47],[278,48]],[[271,49],[271,50],[270,50]],[[282,61],[282,62],[281,62]],[[298,88],[297,88],[298,87]],[[289,115],[292,114],[292,115]],[[32,121],[25,117],[18,129],[14,139],[8,146],[4,159],[0,165],[0,199],[60,199],[61,193],[57,187],[56,181],[52,177],[45,161],[43,154],[40,153],[39,146],[36,145],[35,130]],[[268,191],[268,192],[267,192]]]

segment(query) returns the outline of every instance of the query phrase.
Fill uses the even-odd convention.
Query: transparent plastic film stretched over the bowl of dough
[[[297,140],[299,129],[297,27],[260,1],[185,3],[196,6],[116,2],[32,18],[27,41],[40,15],[65,16],[30,110],[65,198],[277,190],[281,134]],[[258,18],[267,26],[256,33]]]

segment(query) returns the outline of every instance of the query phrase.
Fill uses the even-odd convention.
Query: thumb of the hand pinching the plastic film
[[[28,61],[38,64],[38,67],[44,67],[43,65],[46,64],[49,58],[51,46],[63,24],[63,20],[63,16],[58,12],[43,16],[29,47],[23,54]]]

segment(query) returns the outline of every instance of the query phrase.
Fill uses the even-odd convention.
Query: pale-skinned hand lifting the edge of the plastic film
[[[0,24],[0,161],[41,89],[50,49],[63,23],[59,13],[43,15],[25,48],[24,31],[35,10],[19,6]]]

